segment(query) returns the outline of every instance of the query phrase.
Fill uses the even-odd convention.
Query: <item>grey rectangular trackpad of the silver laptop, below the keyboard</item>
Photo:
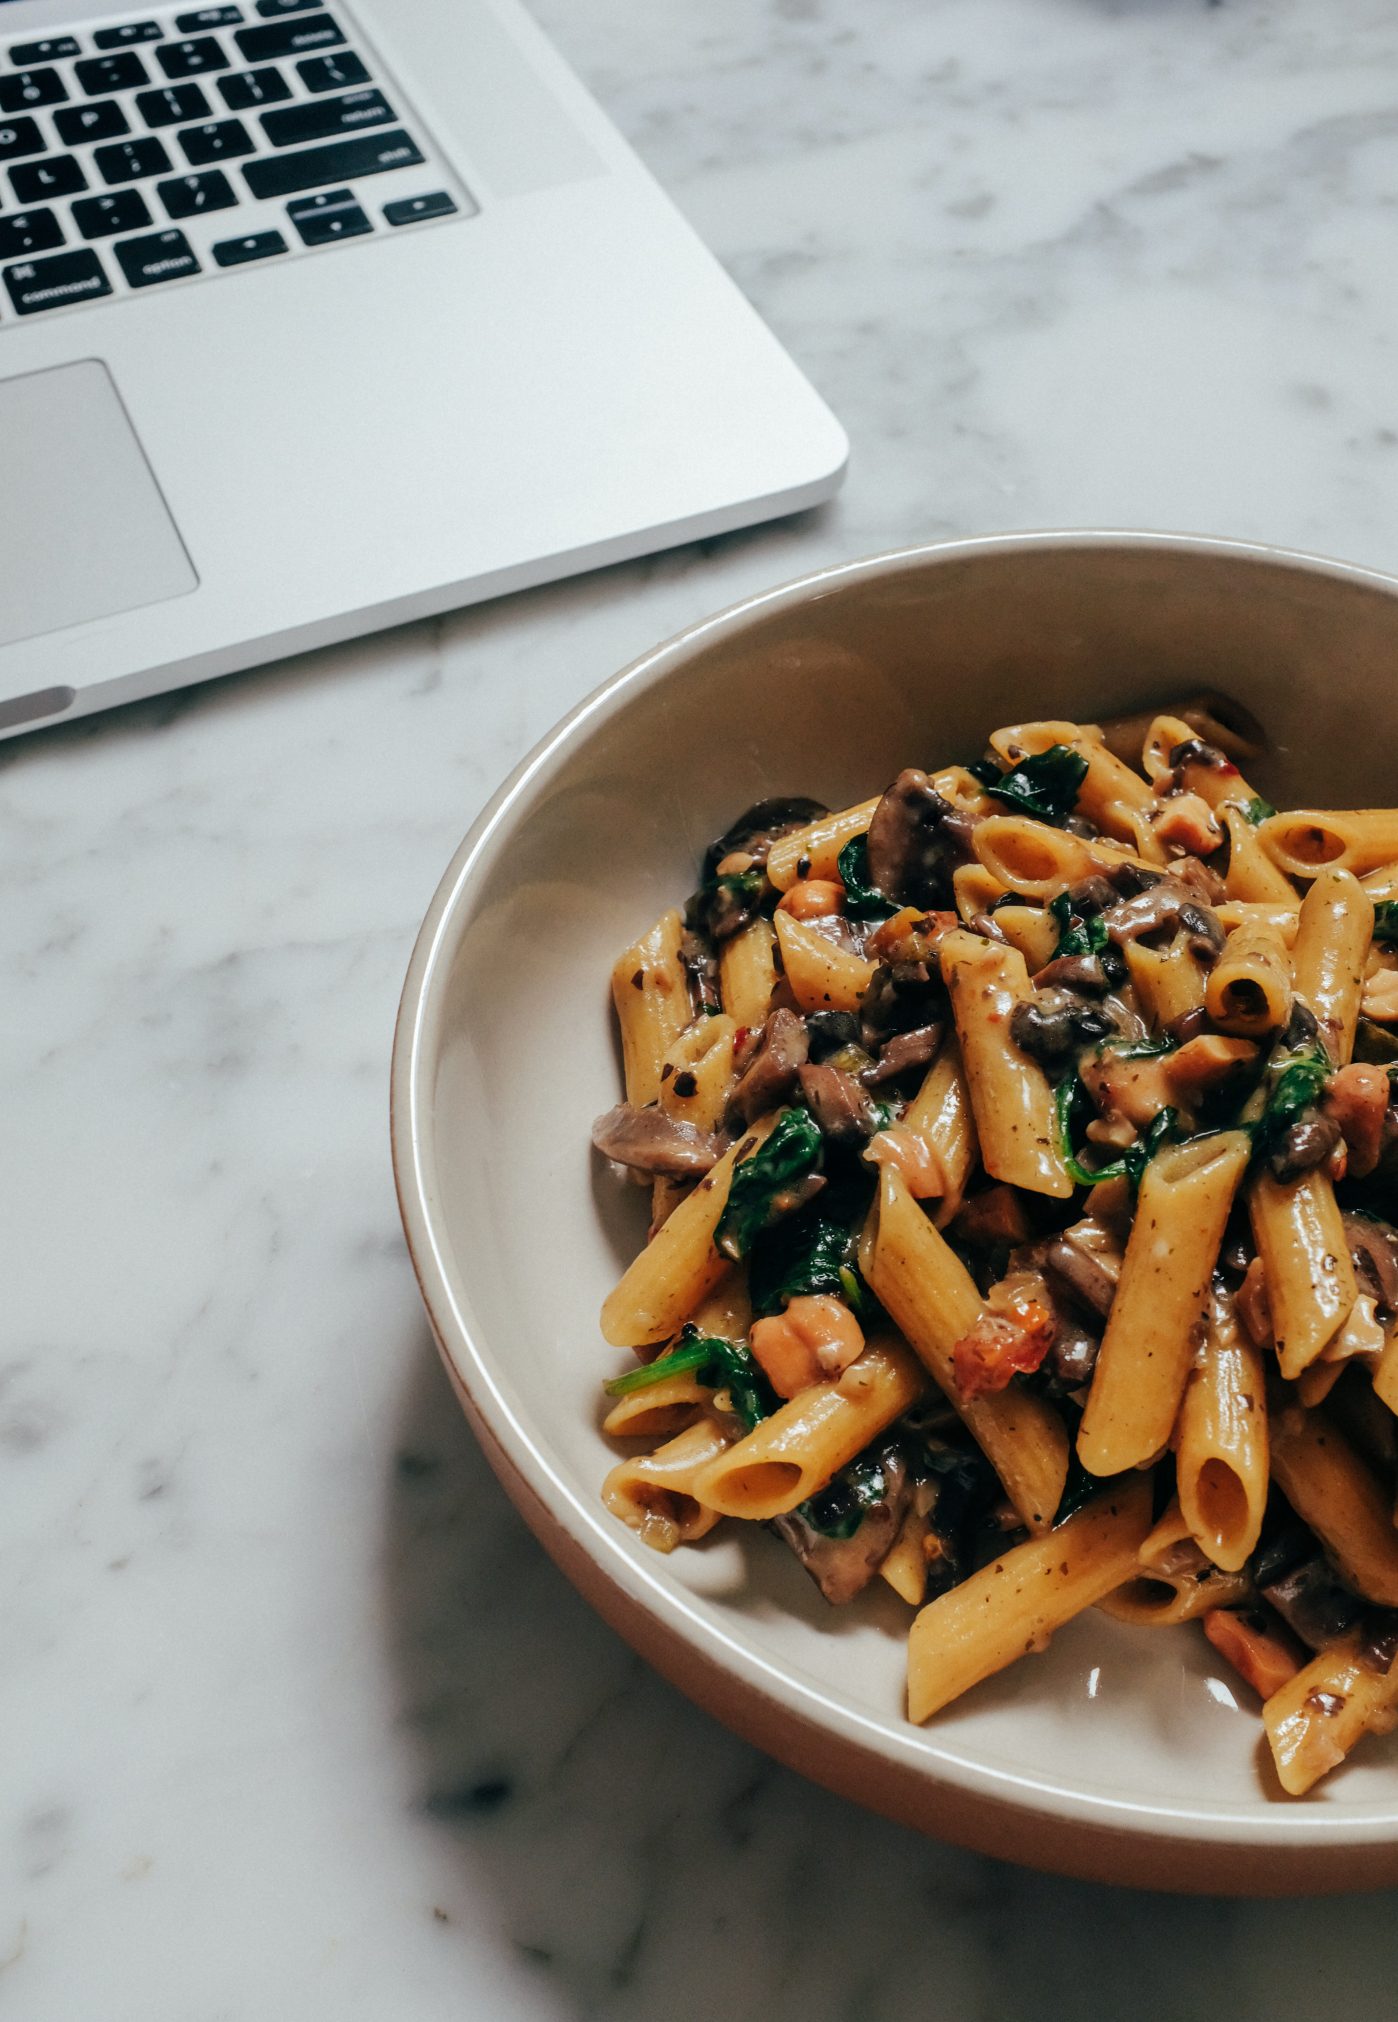
[[[99,358],[0,380],[0,645],[198,588]]]

